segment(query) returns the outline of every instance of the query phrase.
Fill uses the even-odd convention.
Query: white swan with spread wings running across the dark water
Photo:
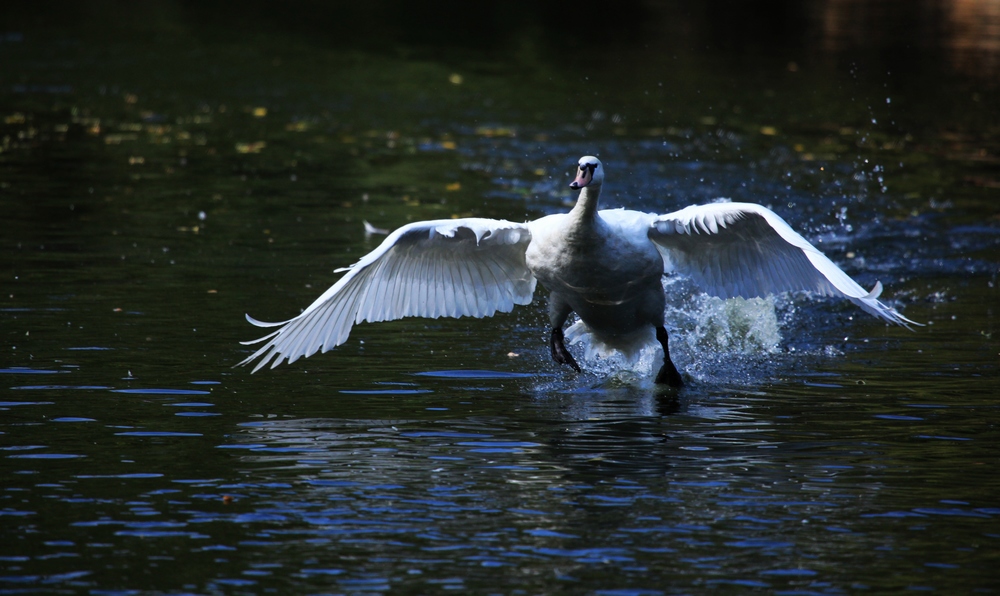
[[[752,203],[694,205],[657,215],[598,210],[604,166],[580,158],[570,188],[580,191],[569,213],[527,223],[464,218],[420,221],[388,235],[349,267],[300,315],[256,340],[240,362],[252,372],[326,352],[363,321],[402,317],[488,317],[531,302],[541,282],[549,291],[552,358],[579,372],[565,345],[568,332],[587,334],[599,351],[626,355],[651,343],[663,348],[656,383],[681,387],[664,327],[661,278],[678,272],[720,298],[752,298],[793,290],[841,296],[888,322],[919,325],[879,301],[795,232],[773,211]]]

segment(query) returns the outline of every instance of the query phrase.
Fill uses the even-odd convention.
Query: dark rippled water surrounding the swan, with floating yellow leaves
[[[4,9],[0,592],[995,592],[1000,15],[870,6]],[[670,280],[677,395],[541,299],[232,368],[363,220],[560,211],[583,154],[927,326]]]

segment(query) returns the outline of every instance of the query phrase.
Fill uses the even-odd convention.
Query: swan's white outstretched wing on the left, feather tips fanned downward
[[[295,362],[347,341],[363,321],[403,317],[488,317],[528,304],[536,280],[524,262],[531,234],[522,224],[493,219],[446,219],[412,223],[345,269],[302,314],[244,345],[266,342],[240,365],[257,358],[254,372],[271,362]],[[272,362],[273,360],[273,362]]]

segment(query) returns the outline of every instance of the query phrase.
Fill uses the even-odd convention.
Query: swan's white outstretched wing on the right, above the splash
[[[690,276],[721,298],[790,290],[843,296],[892,323],[919,325],[866,291],[776,213],[751,203],[695,205],[657,216],[649,238],[664,269]]]

